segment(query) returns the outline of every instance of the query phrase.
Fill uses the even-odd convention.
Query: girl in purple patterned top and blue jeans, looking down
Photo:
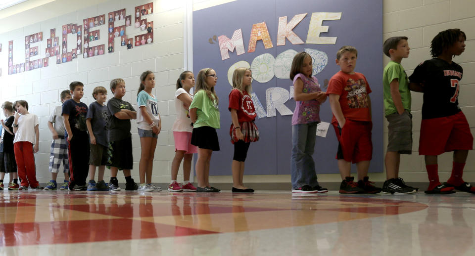
[[[317,125],[320,123],[320,105],[327,95],[312,77],[312,57],[300,52],[293,58],[290,79],[293,81],[295,110],[292,116],[292,193],[325,193],[317,180],[313,152]]]

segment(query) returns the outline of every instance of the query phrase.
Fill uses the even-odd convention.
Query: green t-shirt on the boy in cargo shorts
[[[411,112],[411,91],[409,90],[409,80],[401,64],[390,61],[384,68],[382,74],[383,98],[384,98],[384,116],[397,113],[396,106],[391,96],[389,84],[396,79],[399,82],[399,93],[401,94],[402,106]]]

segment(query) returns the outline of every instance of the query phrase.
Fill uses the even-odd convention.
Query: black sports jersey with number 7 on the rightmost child
[[[422,119],[452,116],[460,111],[458,98],[462,73],[459,64],[449,64],[439,58],[426,60],[416,67],[409,81],[424,84]]]

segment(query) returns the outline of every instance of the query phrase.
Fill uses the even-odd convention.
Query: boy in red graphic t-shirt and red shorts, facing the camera
[[[354,72],[358,51],[353,46],[343,46],[336,53],[340,71],[330,79],[327,95],[333,112],[332,125],[338,139],[338,169],[340,193],[379,193],[368,179],[368,169],[373,156],[371,141],[371,88],[366,77]],[[351,162],[358,167],[358,182],[351,177]]]

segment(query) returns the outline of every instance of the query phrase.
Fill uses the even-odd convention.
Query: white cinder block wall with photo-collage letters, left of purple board
[[[58,0],[57,2],[62,2]],[[99,3],[97,3],[99,2]],[[8,72],[8,41],[14,40],[13,63],[19,64],[24,61],[24,37],[33,33],[43,32],[43,42],[32,44],[39,46],[39,56],[31,59],[45,57],[45,48],[49,38],[49,30],[56,28],[56,34],[61,36],[61,25],[68,23],[82,24],[84,18],[95,17],[108,12],[126,8],[126,15],[134,17],[134,7],[143,3],[153,2],[153,15],[146,16],[147,21],[153,21],[154,43],[150,45],[138,46],[127,50],[120,47],[120,38],[116,38],[114,53],[90,57],[83,59],[80,56],[72,62],[55,64],[55,58],[49,59],[49,66],[28,72],[14,75],[7,75]],[[48,171],[49,152],[51,144],[51,133],[47,128],[47,119],[52,109],[60,105],[59,94],[62,90],[69,88],[72,81],[80,81],[84,86],[84,97],[81,100],[86,104],[94,101],[92,91],[95,86],[104,86],[108,90],[107,98],[111,98],[109,82],[114,78],[123,78],[126,81],[127,93],[124,100],[131,102],[136,110],[137,90],[140,82],[140,75],[143,71],[151,70],[155,73],[156,88],[153,93],[159,101],[159,112],[162,117],[162,131],[158,136],[157,148],[155,151],[153,181],[168,182],[170,180],[171,161],[174,157],[173,133],[170,131],[175,119],[175,105],[173,96],[175,94],[176,80],[184,70],[184,24],[185,22],[185,1],[171,2],[167,0],[110,0],[96,1],[96,4],[72,12],[64,13],[63,9],[57,9],[56,16],[51,16],[47,20],[35,20],[34,17],[24,17],[31,22],[28,26],[16,28],[12,31],[0,35],[2,51],[0,52],[0,67],[2,75],[0,77],[0,102],[6,100],[14,101],[24,99],[28,101],[29,111],[38,115],[40,120],[40,151],[35,154],[37,165],[37,177],[41,183],[46,183],[50,178]],[[52,4],[52,5],[51,5]],[[45,6],[38,7],[41,12]],[[47,8],[54,8],[54,2]],[[53,13],[54,14],[54,13]],[[61,16],[57,16],[60,14]],[[15,16],[22,15],[16,14]],[[18,17],[16,17],[18,18]],[[8,19],[8,18],[6,18]],[[114,26],[124,25],[125,21],[115,22]],[[107,44],[107,23],[99,26],[100,39],[91,43],[91,46]],[[140,29],[127,27],[128,36],[143,34]],[[76,45],[76,36],[68,37],[68,51]],[[132,139],[134,147],[134,171],[133,177],[138,182],[139,160],[140,160],[140,139],[137,134],[137,125],[132,121]],[[86,160],[85,160],[86,161]],[[180,170],[179,175],[182,174]],[[106,179],[108,179],[106,171]],[[119,179],[122,174],[119,174]],[[59,174],[58,180],[62,178]],[[123,179],[123,178],[122,178]],[[182,178],[179,177],[179,180]],[[121,182],[124,182],[122,180]]]

